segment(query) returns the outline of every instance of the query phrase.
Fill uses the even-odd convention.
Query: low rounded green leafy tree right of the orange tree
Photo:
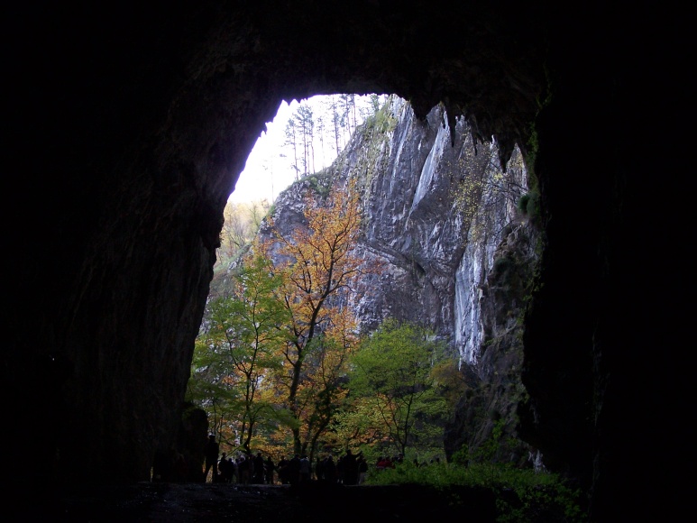
[[[442,445],[440,421],[447,403],[433,372],[445,358],[445,344],[426,328],[385,321],[365,338],[352,359],[349,388],[379,413],[382,433],[397,452]]]

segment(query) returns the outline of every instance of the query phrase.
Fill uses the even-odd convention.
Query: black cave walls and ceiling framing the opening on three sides
[[[514,142],[537,152],[547,243],[521,433],[591,485],[599,514],[627,510],[656,485],[659,465],[636,456],[665,441],[663,398],[685,382],[650,359],[674,342],[668,311],[651,305],[674,291],[639,285],[669,272],[652,252],[682,225],[664,203],[680,192],[651,181],[677,172],[673,159],[636,154],[671,128],[664,17],[647,5],[567,17],[553,3],[301,4],[8,10],[14,480],[36,477],[24,456],[37,427],[53,462],[44,484],[147,479],[176,436],[223,206],[263,123],[284,97],[381,91],[420,116],[443,101],[504,155]]]

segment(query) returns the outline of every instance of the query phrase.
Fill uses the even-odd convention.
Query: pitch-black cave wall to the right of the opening
[[[554,95],[536,124],[546,244],[525,321],[520,433],[581,480],[597,520],[650,520],[680,503],[664,467],[681,458],[662,431],[674,426],[664,401],[685,381],[655,351],[677,334],[657,275],[673,272],[661,252],[676,248],[668,224],[681,211],[673,160],[647,146],[674,102],[658,51],[672,39],[647,6],[606,14],[589,8],[553,32]],[[597,50],[579,45],[589,27]],[[656,448],[661,459],[647,458]]]

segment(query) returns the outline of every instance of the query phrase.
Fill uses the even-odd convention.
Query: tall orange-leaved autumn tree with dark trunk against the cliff
[[[274,271],[283,280],[289,335],[277,381],[295,420],[294,450],[305,453],[309,446],[312,454],[343,394],[338,384],[355,346],[356,320],[347,299],[356,280],[373,268],[354,251],[361,220],[353,184],[330,191],[326,202],[307,197],[304,215],[307,224],[288,235],[271,223],[274,236],[261,248],[277,260]]]

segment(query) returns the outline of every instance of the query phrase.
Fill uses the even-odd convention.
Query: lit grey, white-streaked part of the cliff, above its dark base
[[[441,107],[425,121],[399,97],[383,110],[389,128],[366,124],[319,177],[325,184],[359,180],[359,250],[385,267],[365,281],[353,306],[365,330],[385,317],[423,322],[474,364],[484,337],[481,286],[506,225],[520,224],[516,201],[527,188],[527,172],[515,151],[504,174],[496,145],[475,144],[462,120],[452,142]],[[463,202],[458,195],[472,180],[486,188],[507,183],[508,192],[483,191]],[[280,195],[275,222],[281,229],[302,222],[302,198],[314,184],[301,180]]]

